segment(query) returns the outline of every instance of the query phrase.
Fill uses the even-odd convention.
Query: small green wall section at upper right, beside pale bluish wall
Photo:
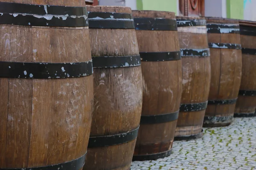
[[[227,0],[227,18],[244,19],[244,1]]]

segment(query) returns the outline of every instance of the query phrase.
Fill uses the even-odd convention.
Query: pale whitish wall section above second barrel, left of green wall
[[[101,6],[128,6],[132,10],[137,9],[137,0],[99,0]]]

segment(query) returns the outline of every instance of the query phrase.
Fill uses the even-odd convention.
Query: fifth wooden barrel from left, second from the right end
[[[211,84],[204,127],[230,125],[235,111],[242,71],[237,20],[206,18],[211,52]]]

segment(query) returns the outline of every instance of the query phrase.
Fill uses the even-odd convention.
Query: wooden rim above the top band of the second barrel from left
[[[116,12],[116,13],[129,13],[131,14],[130,7],[122,6],[86,6],[87,11],[90,12]]]

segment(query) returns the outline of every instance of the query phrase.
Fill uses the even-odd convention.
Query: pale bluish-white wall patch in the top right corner
[[[256,21],[256,0],[244,0],[244,20]]]

